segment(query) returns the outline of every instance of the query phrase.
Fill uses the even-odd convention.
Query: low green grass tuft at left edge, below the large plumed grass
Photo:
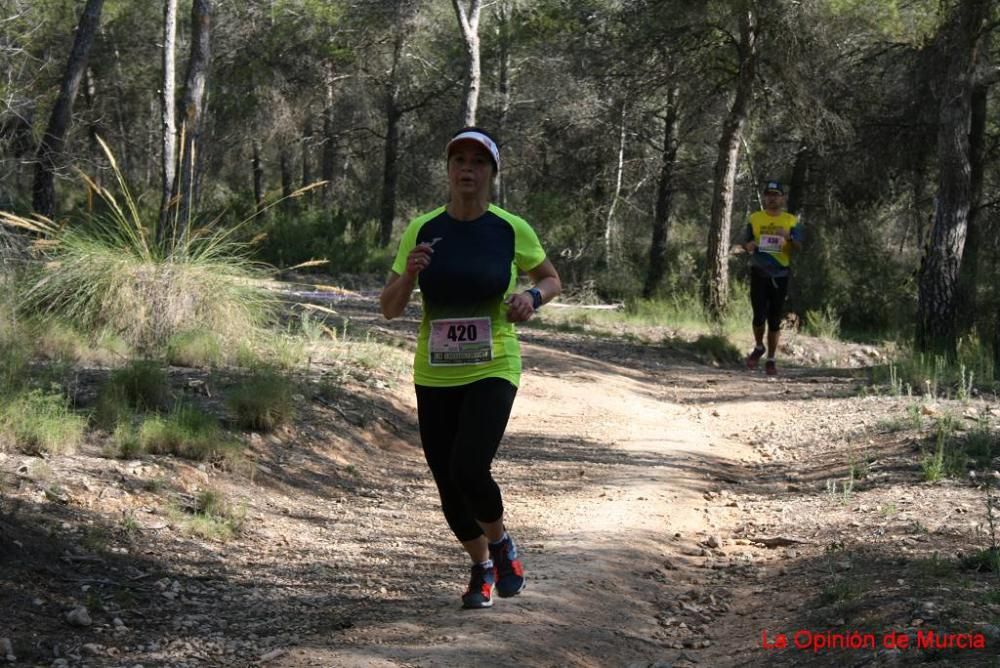
[[[67,454],[83,441],[86,420],[69,408],[61,394],[31,390],[0,408],[3,440],[30,454]]]

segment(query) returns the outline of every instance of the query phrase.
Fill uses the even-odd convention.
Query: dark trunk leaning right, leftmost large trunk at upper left
[[[90,47],[101,22],[104,0],[87,0],[76,27],[73,48],[66,63],[59,95],[56,97],[49,124],[42,135],[35,156],[35,180],[32,185],[32,207],[36,213],[53,218],[56,211],[55,170],[66,143],[66,131],[73,116],[73,102],[80,90],[80,81],[87,69]]]

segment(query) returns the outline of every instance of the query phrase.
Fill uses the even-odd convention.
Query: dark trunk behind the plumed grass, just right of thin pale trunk
[[[197,177],[201,152],[201,124],[205,114],[205,90],[211,60],[212,5],[209,0],[194,0],[191,5],[191,57],[188,60],[181,101],[180,172],[174,180],[173,197],[177,200],[177,237],[186,235],[192,211],[197,207]]]

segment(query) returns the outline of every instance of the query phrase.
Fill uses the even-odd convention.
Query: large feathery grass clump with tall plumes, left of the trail
[[[111,151],[100,143],[119,198],[81,176],[104,203],[104,213],[56,224],[0,212],[0,223],[32,237],[35,261],[18,281],[19,310],[65,319],[91,333],[113,331],[143,353],[159,351],[173,335],[194,328],[228,343],[270,322],[276,300],[262,283],[269,268],[234,237],[250,219],[228,229],[217,228],[217,220],[188,225],[182,234],[156,241],[157,216],[145,222]]]

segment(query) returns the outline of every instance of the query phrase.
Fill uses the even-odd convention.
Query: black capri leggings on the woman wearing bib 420
[[[517,388],[503,378],[456,387],[417,385],[420,442],[441,495],[441,509],[458,540],[482,535],[479,522],[503,517],[500,487],[490,467],[507,429]]]

